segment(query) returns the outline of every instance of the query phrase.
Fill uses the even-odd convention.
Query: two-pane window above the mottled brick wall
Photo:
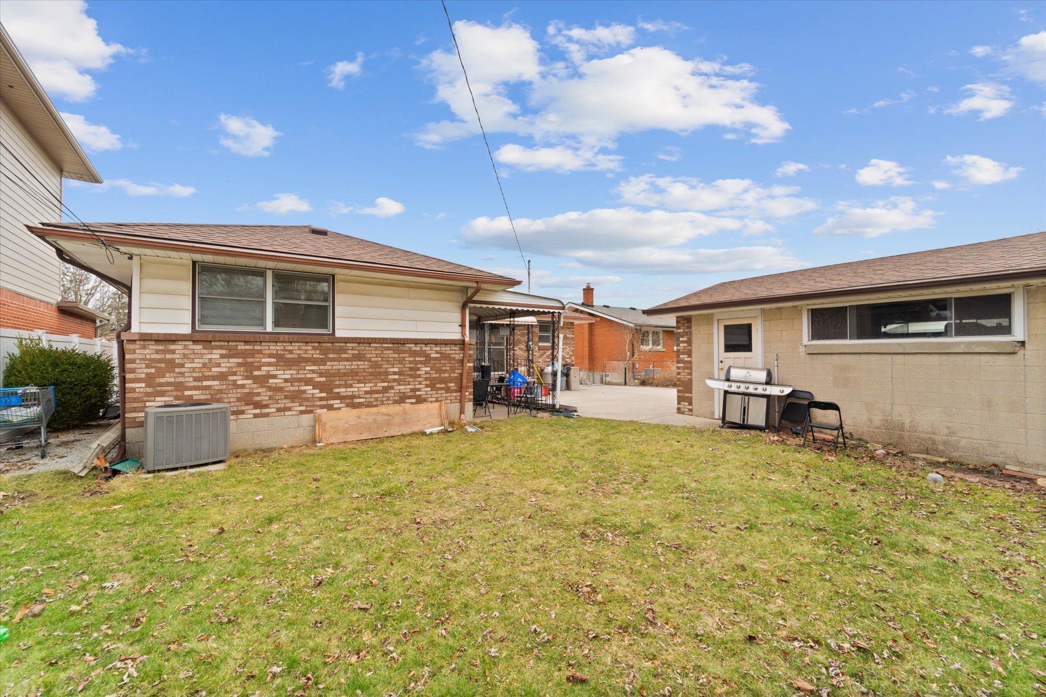
[[[329,333],[333,288],[321,274],[199,263],[196,328]]]

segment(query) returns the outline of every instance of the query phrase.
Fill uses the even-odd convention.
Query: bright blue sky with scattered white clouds
[[[1046,229],[1042,3],[448,6],[533,293],[650,306]],[[308,223],[523,277],[438,2],[0,19],[107,180],[67,182],[85,220]]]

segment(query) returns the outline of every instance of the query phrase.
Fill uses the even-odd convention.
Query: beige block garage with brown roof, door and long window
[[[678,411],[731,365],[842,408],[847,432],[1046,474],[1046,232],[719,283],[675,317]]]

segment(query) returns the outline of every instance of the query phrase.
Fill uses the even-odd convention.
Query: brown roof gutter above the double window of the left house
[[[301,263],[302,261],[308,261],[310,263],[315,263],[320,266],[331,266],[334,269],[350,269],[354,271],[369,271],[376,273],[386,273],[386,274],[399,274],[402,276],[416,276],[422,278],[438,278],[445,280],[454,281],[483,281],[486,283],[497,283],[499,285],[519,285],[522,281],[518,281],[515,278],[508,278],[507,276],[473,276],[469,274],[453,274],[449,272],[434,272],[434,271],[423,271],[419,269],[408,269],[406,266],[393,266],[387,264],[376,264],[376,263],[365,263],[365,262],[353,262],[353,261],[342,261],[339,259],[332,259],[329,257],[314,257],[303,254],[280,254],[278,252],[264,253],[256,252],[252,250],[245,250],[240,247],[223,247],[220,245],[197,245],[192,242],[168,242],[164,240],[159,240],[154,237],[134,237],[128,235],[114,235],[105,231],[94,231],[94,234],[89,234],[79,230],[68,230],[60,228],[43,228],[40,226],[27,225],[26,229],[38,237],[59,237],[62,239],[81,239],[86,241],[97,242],[99,239],[104,239],[115,246],[120,245],[134,245],[138,247],[146,247],[150,249],[160,249],[176,252],[188,252],[197,254],[213,254],[215,251],[221,251],[229,256],[238,256],[249,259],[264,259],[267,261],[293,261],[295,263]],[[52,245],[53,246],[53,245]],[[91,271],[91,270],[88,270]],[[98,275],[97,272],[91,271],[92,274]]]

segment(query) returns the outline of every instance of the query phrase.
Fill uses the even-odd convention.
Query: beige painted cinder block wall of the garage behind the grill
[[[1007,353],[808,353],[801,311],[763,310],[765,362],[777,353],[775,380],[838,402],[847,431],[912,452],[1046,474],[1046,287],[1027,289],[1027,340]],[[692,320],[693,413],[711,416],[711,316]],[[697,367],[702,361],[707,370]]]

